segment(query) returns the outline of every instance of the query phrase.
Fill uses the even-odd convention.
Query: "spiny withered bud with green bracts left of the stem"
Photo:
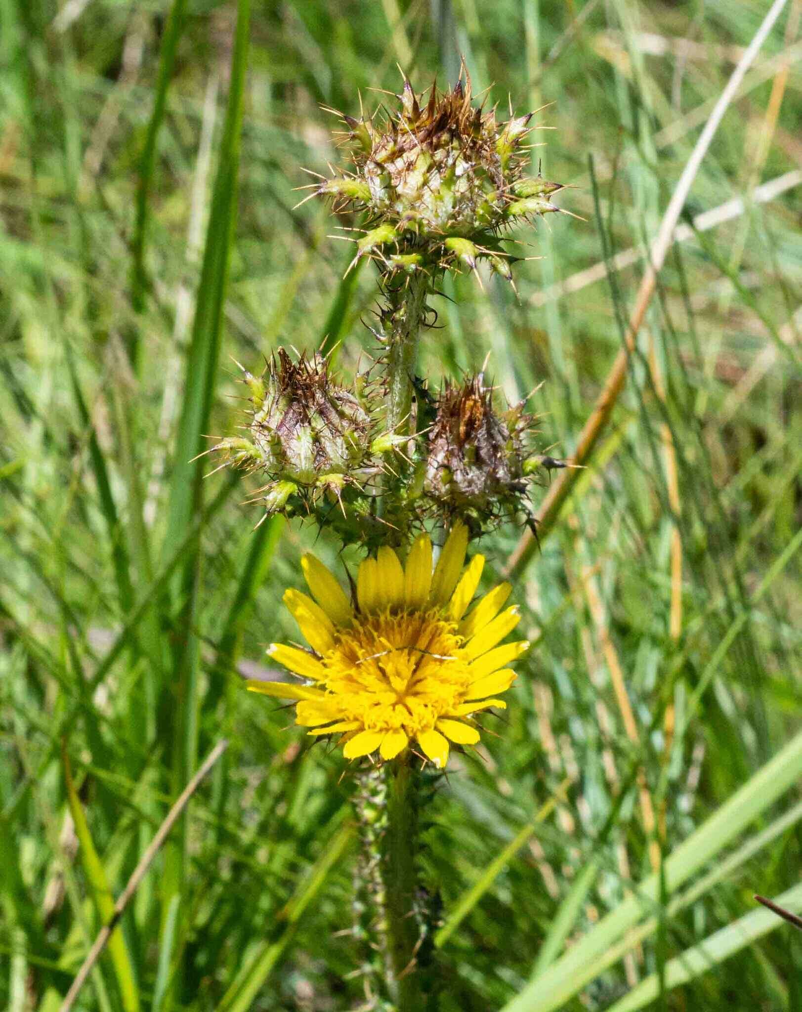
[[[343,506],[346,492],[360,494],[382,470],[384,442],[374,446],[381,437],[370,396],[360,400],[335,383],[322,355],[293,361],[280,348],[260,377],[243,371],[252,404],[248,436],[214,449],[228,452],[234,467],[267,476],[260,489],[267,513],[292,515],[302,505],[310,512],[326,498]]]

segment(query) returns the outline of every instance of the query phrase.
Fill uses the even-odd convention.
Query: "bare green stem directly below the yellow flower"
[[[387,826],[381,872],[389,985],[397,1012],[424,1008],[416,955],[420,923],[415,909],[418,816],[415,772],[405,756],[386,766]]]

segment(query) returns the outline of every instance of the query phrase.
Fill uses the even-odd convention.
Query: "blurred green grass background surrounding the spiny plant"
[[[533,162],[584,221],[518,231],[540,259],[517,298],[447,279],[420,372],[490,349],[510,399],[542,385],[542,446],[570,456],[768,6],[0,5],[0,1002],[59,1007],[103,901],[227,737],[78,1007],[372,1007],[348,930],[353,778],[240,685],[295,636],[278,602],[301,552],[336,546],[254,533],[254,483],[189,462],[241,424],[232,358],[255,371],[326,337],[347,371],[373,345],[373,268],[343,280],[351,249],[328,238],[354,223],[295,208],[302,167],[343,158],[321,105],[373,108],[396,64],[418,89],[453,83],[462,54],[502,110],[547,106]],[[515,569],[536,648],[497,737],[427,808],[449,1012],[522,992],[520,1012],[802,1007],[798,932],[726,933],[802,867],[799,22],[792,0],[697,176],[612,424]],[[520,534],[483,542],[496,576]],[[591,935],[627,903],[618,934]],[[548,1004],[539,978],[583,937],[584,973]]]

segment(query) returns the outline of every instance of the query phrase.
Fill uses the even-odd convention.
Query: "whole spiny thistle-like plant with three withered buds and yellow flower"
[[[360,908],[357,926],[360,937],[372,925],[380,935],[384,982],[370,964],[372,987],[391,1003],[381,1007],[411,1012],[430,1007],[432,993],[432,907],[419,900],[416,864],[420,767],[442,770],[479,742],[528,647],[504,642],[519,620],[508,584],[474,600],[484,559],[467,552],[503,520],[534,523],[530,490],[545,466],[524,402],[497,408],[483,373],[432,395],[416,375],[418,342],[443,272],[485,261],[511,279],[509,227],[559,210],[551,196],[562,187],[525,174],[532,115],[500,121],[474,107],[466,73],[446,92],[432,86],[426,101],[405,79],[398,102],[342,117],[351,168],[321,177],[312,194],[362,215],[354,262],[377,265],[382,297],[370,381],[348,384],[318,355],[296,361],[279,350],[261,377],[245,373],[246,431],[216,448],[264,478],[267,513],[311,516],[343,545],[368,550],[348,589],[304,557],[310,594],[290,589],[285,603],[308,647],[272,644],[288,679],[249,687],[295,703],[313,740],[373,770],[357,807],[370,851],[357,896],[376,914]]]

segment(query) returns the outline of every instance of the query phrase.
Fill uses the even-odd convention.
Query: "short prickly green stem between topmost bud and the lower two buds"
[[[390,305],[382,314],[388,339],[387,427],[392,432],[403,434],[409,429],[412,377],[428,282],[422,271],[410,275],[403,287],[389,291]]]

